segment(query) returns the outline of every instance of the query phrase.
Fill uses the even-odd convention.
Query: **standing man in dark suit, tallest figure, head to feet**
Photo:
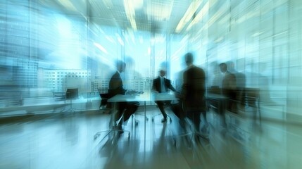
[[[201,123],[200,115],[204,118],[204,128],[208,127],[206,121],[206,99],[205,99],[205,83],[206,75],[202,68],[193,64],[193,54],[184,55],[187,64],[187,70],[183,73],[183,84],[180,97],[182,99],[182,107],[186,116],[194,123],[195,131],[200,132]],[[206,134],[206,133],[205,133]]]

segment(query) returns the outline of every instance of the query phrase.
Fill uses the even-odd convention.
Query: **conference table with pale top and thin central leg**
[[[144,102],[144,116],[146,117],[146,102],[147,101],[173,101],[177,100],[173,92],[168,93],[156,93],[156,92],[146,92],[143,94],[132,94],[132,95],[123,95],[117,94],[111,99],[108,99],[108,102],[113,103],[113,107],[116,109],[116,104],[123,101],[138,101]],[[146,140],[146,118],[144,118],[144,139]]]

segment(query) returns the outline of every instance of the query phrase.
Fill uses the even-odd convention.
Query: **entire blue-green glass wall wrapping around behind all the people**
[[[202,1],[180,34],[151,32],[148,25],[146,31],[98,25],[85,15],[89,8],[67,13],[44,4],[0,2],[2,107],[24,104],[8,96],[51,97],[74,87],[106,92],[117,59],[127,63],[125,88],[149,91],[165,67],[180,89],[182,56],[193,51],[208,87],[219,85],[218,64],[227,62],[230,70],[244,74],[246,87],[261,89],[263,101],[285,107],[277,116],[302,115],[299,0]]]

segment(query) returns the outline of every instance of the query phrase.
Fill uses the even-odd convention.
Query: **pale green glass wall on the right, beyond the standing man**
[[[208,86],[217,85],[218,64],[245,77],[245,86],[260,89],[263,115],[287,119],[302,115],[301,3],[282,1],[208,1],[208,8],[189,31],[189,46],[206,55]],[[207,4],[205,2],[205,4]],[[199,13],[196,14],[196,17]],[[194,45],[192,45],[193,43]],[[198,45],[201,44],[201,45]],[[199,53],[200,51],[200,53]],[[272,113],[274,112],[274,113]]]

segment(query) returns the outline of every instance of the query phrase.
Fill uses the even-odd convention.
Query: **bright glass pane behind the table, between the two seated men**
[[[125,32],[125,89],[150,91],[152,75],[151,34],[128,30]]]

